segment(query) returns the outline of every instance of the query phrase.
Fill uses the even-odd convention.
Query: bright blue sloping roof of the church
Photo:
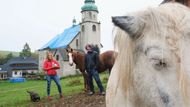
[[[80,32],[80,25],[73,25],[58,34],[39,50],[66,48]]]

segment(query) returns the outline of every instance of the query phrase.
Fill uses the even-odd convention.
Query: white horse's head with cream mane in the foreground
[[[190,9],[168,3],[112,21],[107,107],[190,107]]]

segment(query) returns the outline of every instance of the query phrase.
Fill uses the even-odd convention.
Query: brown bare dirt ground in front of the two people
[[[63,99],[58,97],[52,101],[42,101],[32,104],[30,107],[105,107],[105,96],[94,94],[88,96],[84,93],[67,96]]]

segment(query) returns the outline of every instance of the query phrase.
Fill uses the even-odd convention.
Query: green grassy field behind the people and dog
[[[108,74],[101,74],[100,77],[105,87]],[[82,92],[84,87],[82,76],[63,78],[61,79],[61,85],[65,96]],[[35,91],[40,94],[41,98],[44,98],[47,95],[46,81],[28,80],[23,83],[0,81],[0,107],[27,107],[31,105],[32,103],[26,90]],[[57,87],[55,83],[52,82],[51,95],[58,98],[58,96],[56,96],[57,94]]]

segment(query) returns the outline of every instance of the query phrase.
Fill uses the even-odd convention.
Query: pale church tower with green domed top
[[[81,49],[86,44],[97,44],[100,46],[100,22],[98,21],[98,8],[95,0],[85,0],[81,7]]]

